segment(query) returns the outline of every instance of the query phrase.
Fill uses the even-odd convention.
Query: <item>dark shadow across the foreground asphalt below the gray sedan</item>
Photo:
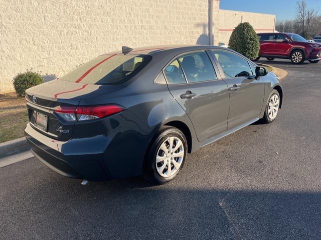
[[[16,224],[46,239],[321,237],[320,192],[185,188],[141,177],[83,186],[48,171],[34,183],[2,197],[2,234],[19,238]],[[16,204],[18,198],[24,201]]]

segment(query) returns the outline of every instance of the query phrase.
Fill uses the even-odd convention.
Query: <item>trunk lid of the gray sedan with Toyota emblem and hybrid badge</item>
[[[57,79],[27,89],[30,124],[54,140],[67,141],[76,121],[67,121],[54,110],[59,106],[78,106],[80,99],[94,94],[98,88],[99,85]]]

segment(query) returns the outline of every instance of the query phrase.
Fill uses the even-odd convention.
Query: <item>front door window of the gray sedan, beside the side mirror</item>
[[[243,57],[230,51],[211,50],[211,52],[222,67],[225,78],[253,75],[249,62]]]

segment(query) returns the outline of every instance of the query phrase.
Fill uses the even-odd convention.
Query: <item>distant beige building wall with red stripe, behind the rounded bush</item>
[[[233,29],[242,21],[249,22],[258,33],[273,32],[275,15],[220,9],[218,19],[219,28],[215,42],[224,42],[228,45]]]

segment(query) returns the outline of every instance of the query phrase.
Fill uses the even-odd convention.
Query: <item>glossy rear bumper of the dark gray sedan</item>
[[[74,136],[68,141],[52,139],[30,123],[25,135],[34,155],[61,175],[90,181],[132,177],[141,174],[152,136],[149,128],[137,124],[139,121],[127,120],[133,117],[130,111],[125,111],[102,119],[106,127],[101,129],[103,134],[88,135],[83,126],[75,125]]]

